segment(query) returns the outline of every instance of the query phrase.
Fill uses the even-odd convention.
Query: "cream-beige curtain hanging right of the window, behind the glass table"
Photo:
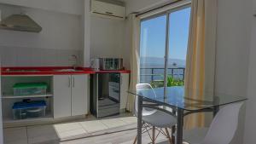
[[[192,0],[189,30],[189,46],[185,72],[185,95],[204,100],[214,93],[215,49],[217,26],[217,0]],[[188,102],[188,101],[187,101]],[[185,118],[187,129],[203,127],[204,113]]]

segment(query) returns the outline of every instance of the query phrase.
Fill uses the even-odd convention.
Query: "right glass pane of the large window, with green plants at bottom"
[[[190,7],[174,11],[169,17],[168,86],[181,86],[184,84],[189,19]]]

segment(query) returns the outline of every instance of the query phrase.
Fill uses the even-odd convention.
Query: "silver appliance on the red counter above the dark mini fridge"
[[[90,60],[90,67],[95,70],[122,70],[123,59],[120,58],[98,58]]]

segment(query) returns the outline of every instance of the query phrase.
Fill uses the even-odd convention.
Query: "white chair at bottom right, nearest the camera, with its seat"
[[[221,108],[209,129],[184,130],[183,140],[189,144],[229,144],[236,133],[242,104],[234,103]]]

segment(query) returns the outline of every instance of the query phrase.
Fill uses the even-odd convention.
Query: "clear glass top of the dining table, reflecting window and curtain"
[[[247,100],[246,97],[237,95],[225,95],[216,92],[213,93],[191,89],[189,89],[189,91],[193,91],[193,94],[185,95],[183,86],[173,86],[128,91],[128,93],[142,96],[149,101],[153,101],[163,106],[166,105],[170,107],[177,107],[187,111],[197,111],[206,108],[219,107],[230,103]]]

